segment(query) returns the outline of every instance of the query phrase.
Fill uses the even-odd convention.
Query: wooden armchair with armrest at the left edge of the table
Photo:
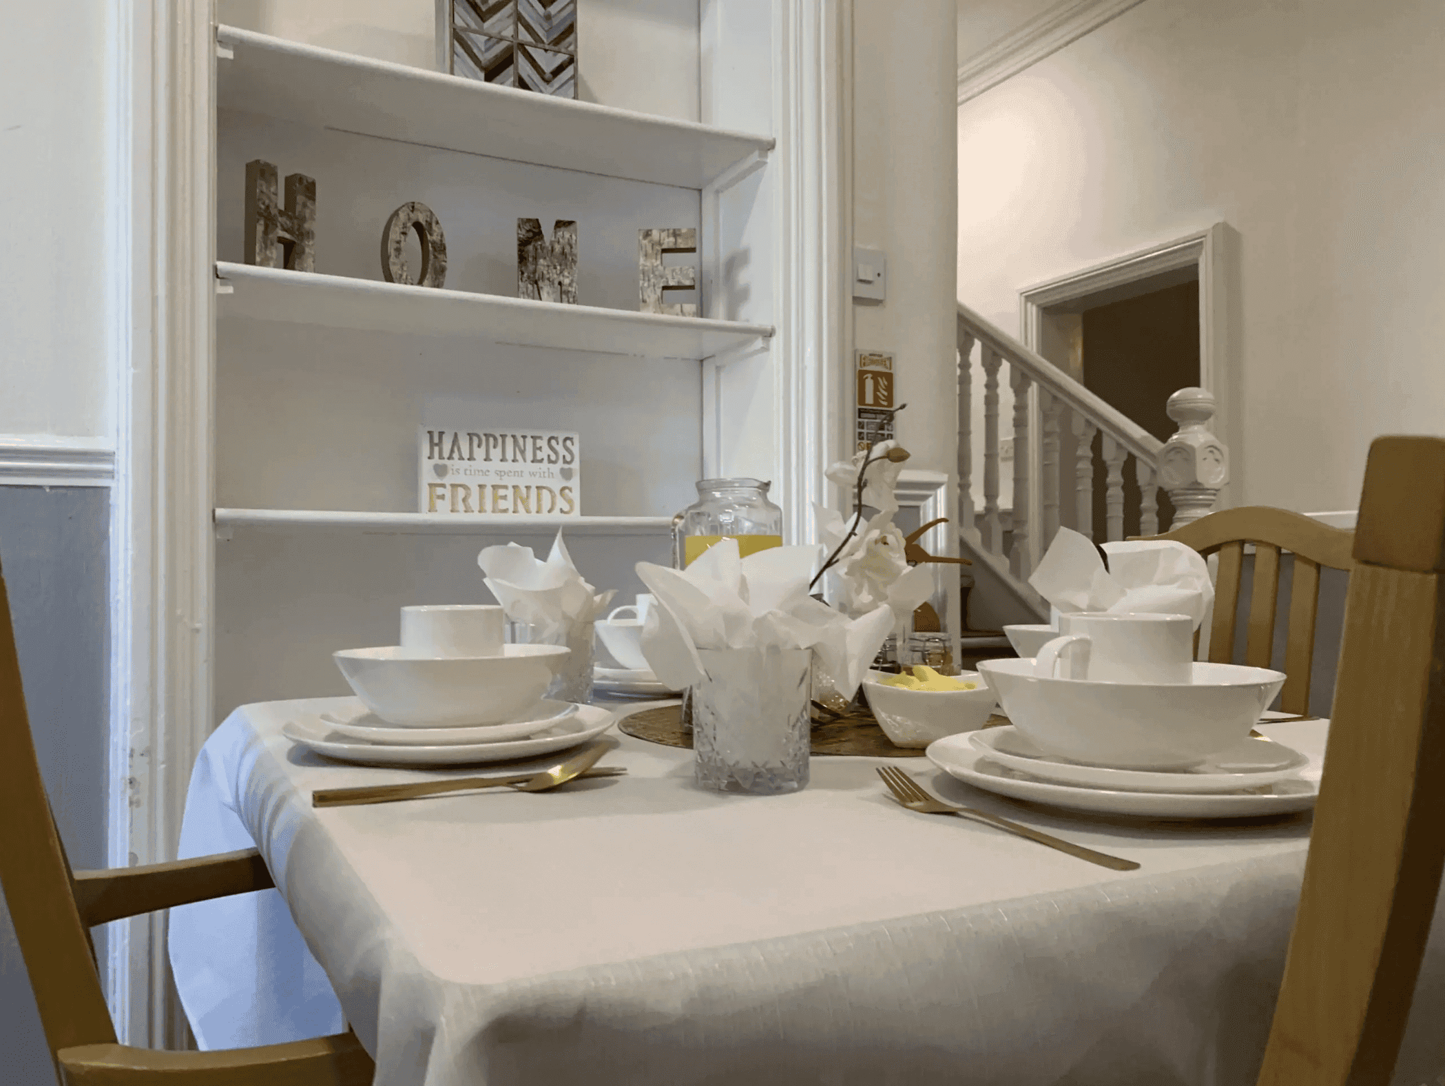
[[[269,889],[254,849],[117,871],[72,872],[35,756],[10,603],[0,577],[0,885],[62,1083],[87,1086],[364,1086],[371,1059],[350,1031],[231,1051],[155,1051],[116,1041],[90,928],[192,901]]]

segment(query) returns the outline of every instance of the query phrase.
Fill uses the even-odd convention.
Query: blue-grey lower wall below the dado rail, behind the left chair
[[[0,564],[30,730],[61,837],[77,868],[105,865],[108,525],[108,487],[0,486]],[[104,967],[105,933],[94,934]],[[0,1086],[53,1082],[3,901],[0,1021]]]

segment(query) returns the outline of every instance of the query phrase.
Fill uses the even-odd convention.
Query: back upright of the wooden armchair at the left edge
[[[51,817],[0,576],[0,886],[51,1053],[116,1041],[71,869]]]

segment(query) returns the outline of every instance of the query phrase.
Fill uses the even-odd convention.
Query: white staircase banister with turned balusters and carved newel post
[[[981,412],[974,405],[974,366],[983,372]],[[1000,499],[1000,376],[1013,393],[1009,508]],[[1139,484],[1140,535],[1160,531],[1160,486],[1175,505],[1172,526],[1214,506],[1228,476],[1227,451],[1208,431],[1214,396],[1181,389],[1169,398],[1169,416],[1181,429],[1162,442],[1058,366],[958,305],[958,535],[964,554],[974,560],[972,596],[988,607],[987,615],[971,616],[971,625],[997,629],[1003,622],[1046,620],[1049,604],[1029,587],[1029,574],[1061,525],[1100,541],[1124,538],[1126,471]],[[1095,435],[1103,435],[1103,479],[1095,479]],[[974,497],[977,453],[981,509]],[[1105,510],[1101,532],[1094,526],[1097,490]]]

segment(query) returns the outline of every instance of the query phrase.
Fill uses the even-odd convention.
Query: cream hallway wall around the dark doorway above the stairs
[[[1235,503],[1347,509],[1445,431],[1445,6],[1150,0],[958,111],[958,296],[1224,221]]]

